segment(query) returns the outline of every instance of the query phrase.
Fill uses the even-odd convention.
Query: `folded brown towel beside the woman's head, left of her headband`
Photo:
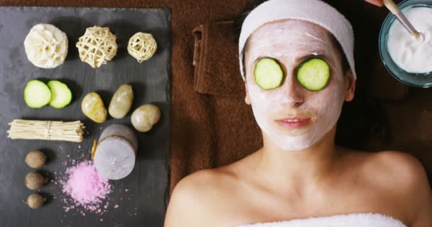
[[[238,44],[233,22],[207,23],[193,29],[194,83],[196,92],[221,96],[243,96]]]

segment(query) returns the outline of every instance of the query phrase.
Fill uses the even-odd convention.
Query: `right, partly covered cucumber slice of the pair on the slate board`
[[[70,101],[72,100],[72,92],[70,92],[68,85],[58,80],[51,80],[48,82],[48,87],[50,87],[52,94],[50,106],[53,106],[56,109],[61,109],[70,104]]]

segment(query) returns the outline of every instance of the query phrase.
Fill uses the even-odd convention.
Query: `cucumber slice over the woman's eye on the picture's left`
[[[261,89],[271,90],[281,86],[284,72],[276,60],[263,57],[255,65],[254,77]]]

